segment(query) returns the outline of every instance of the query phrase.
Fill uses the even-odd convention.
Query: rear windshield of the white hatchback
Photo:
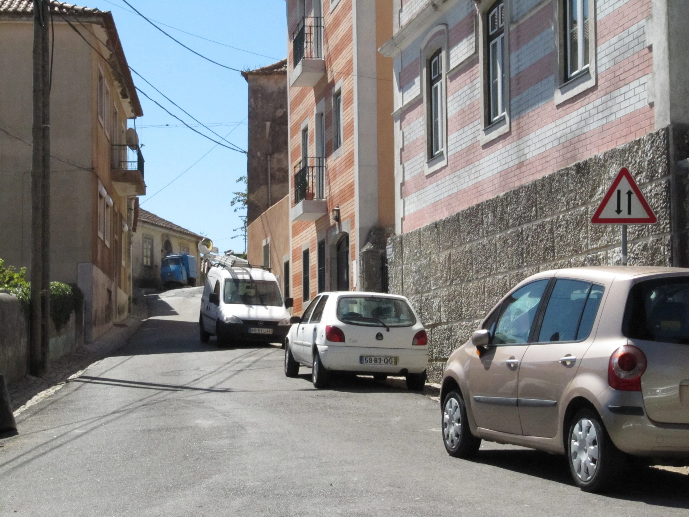
[[[338,300],[338,319],[369,327],[409,327],[416,323],[406,301],[376,296],[343,296]]]

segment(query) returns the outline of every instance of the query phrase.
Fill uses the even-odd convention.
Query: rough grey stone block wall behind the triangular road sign
[[[658,216],[656,225],[628,227],[628,263],[686,266],[688,135],[685,127],[652,132],[392,236],[390,292],[407,296],[426,325],[429,378],[440,378],[453,350],[527,276],[621,263],[621,227],[592,225],[590,219],[622,167]]]

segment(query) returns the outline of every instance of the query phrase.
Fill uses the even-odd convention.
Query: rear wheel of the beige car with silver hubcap
[[[607,491],[624,472],[626,454],[615,447],[593,409],[582,409],[575,415],[567,447],[574,483],[584,491]]]

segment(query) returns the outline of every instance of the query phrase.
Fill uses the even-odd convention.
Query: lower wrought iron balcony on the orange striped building
[[[294,167],[293,221],[316,221],[327,214],[325,158],[309,156]]]

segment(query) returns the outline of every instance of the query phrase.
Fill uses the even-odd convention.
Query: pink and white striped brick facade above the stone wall
[[[555,103],[558,87],[556,1],[506,0],[509,28],[510,130],[482,145],[482,81],[477,8],[456,0],[395,58],[397,231],[409,232],[539,176],[636,139],[655,129],[647,81],[651,0],[595,2],[595,85]],[[428,3],[401,0],[399,27]],[[437,2],[436,2],[437,3]],[[593,0],[590,1],[593,6]],[[427,10],[426,10],[427,12]],[[420,45],[446,24],[447,163],[424,172],[426,122]]]

